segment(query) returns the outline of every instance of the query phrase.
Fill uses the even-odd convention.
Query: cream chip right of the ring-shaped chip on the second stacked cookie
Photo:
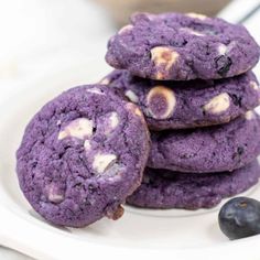
[[[226,111],[230,106],[229,95],[221,93],[218,96],[212,98],[203,109],[210,113],[221,113]]]

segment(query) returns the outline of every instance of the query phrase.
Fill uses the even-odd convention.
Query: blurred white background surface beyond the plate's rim
[[[238,0],[219,15],[237,22],[259,0]],[[115,30],[109,21],[90,0],[0,0],[0,106],[54,71],[90,57],[104,62]],[[260,43],[260,13],[246,26]],[[1,249],[0,259],[25,257]]]

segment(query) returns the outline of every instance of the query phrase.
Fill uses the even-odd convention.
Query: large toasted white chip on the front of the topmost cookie
[[[158,46],[151,50],[152,61],[155,66],[165,66],[165,71],[169,71],[172,65],[177,61],[180,54],[166,46]]]

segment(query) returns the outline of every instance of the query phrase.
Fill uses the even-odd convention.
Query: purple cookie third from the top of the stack
[[[226,124],[152,132],[148,166],[177,172],[234,171],[260,153],[260,117],[248,111]]]

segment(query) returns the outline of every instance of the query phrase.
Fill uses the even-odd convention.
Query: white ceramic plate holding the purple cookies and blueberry
[[[15,150],[31,117],[62,90],[95,83],[110,68],[89,61],[46,76],[0,107],[0,243],[37,259],[87,257],[173,259],[259,259],[260,237],[229,241],[219,230],[219,206],[210,210],[151,210],[126,206],[118,221],[57,228],[36,215],[19,189]],[[246,195],[260,199],[259,185]]]

